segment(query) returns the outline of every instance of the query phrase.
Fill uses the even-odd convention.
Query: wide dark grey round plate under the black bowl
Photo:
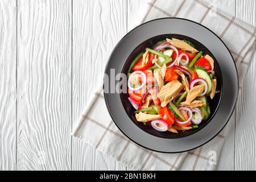
[[[236,65],[229,49],[216,34],[199,23],[180,18],[162,18],[141,24],[126,34],[114,48],[106,65],[105,74],[110,76],[112,69],[115,74],[121,73],[126,62],[139,44],[158,35],[183,35],[193,38],[203,44],[218,61],[222,73],[221,100],[211,121],[201,130],[181,138],[162,138],[142,130],[130,118],[123,107],[119,93],[104,92],[109,113],[123,134],[133,142],[150,150],[175,153],[192,150],[214,138],[224,128],[231,117],[238,96],[238,75]],[[194,42],[194,41],[193,41]],[[155,42],[154,42],[155,43]],[[202,47],[203,48],[203,47]],[[199,47],[200,49],[200,47]],[[135,55],[131,55],[134,57]],[[127,69],[127,68],[126,68]],[[220,74],[220,72],[218,72]],[[119,79],[113,81],[118,84]],[[104,79],[104,88],[112,81]],[[221,86],[221,85],[219,85]],[[217,98],[217,97],[216,97]]]

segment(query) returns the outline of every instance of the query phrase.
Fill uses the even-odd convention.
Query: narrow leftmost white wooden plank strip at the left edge
[[[0,171],[16,169],[16,1],[0,1]]]

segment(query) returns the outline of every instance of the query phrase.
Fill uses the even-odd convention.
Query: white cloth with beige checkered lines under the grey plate
[[[163,17],[179,17],[199,22],[214,31],[228,46],[239,74],[240,88],[255,52],[256,28],[225,14],[200,0],[153,0],[147,3],[140,23]],[[254,60],[255,61],[255,60]],[[138,146],[125,137],[112,121],[100,89],[81,117],[73,136],[84,140],[106,155],[133,169],[143,170],[213,170],[228,134],[225,127],[213,140],[195,150],[163,154]]]

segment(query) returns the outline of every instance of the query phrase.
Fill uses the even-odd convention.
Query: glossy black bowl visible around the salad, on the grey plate
[[[220,100],[221,100],[221,96],[222,96],[222,74],[221,74],[221,69],[220,66],[217,63],[217,60],[215,59],[214,55],[209,51],[209,49],[207,47],[205,47],[203,44],[201,44],[200,42],[198,42],[197,40],[190,38],[188,36],[184,36],[184,35],[179,35],[179,34],[164,34],[164,35],[158,35],[158,36],[154,36],[150,39],[147,39],[146,41],[144,41],[143,43],[139,44],[139,46],[137,46],[133,52],[131,52],[130,56],[128,57],[128,59],[126,60],[125,64],[123,65],[123,69],[122,69],[122,73],[127,74],[127,71],[130,67],[131,62],[134,60],[134,58],[141,52],[145,51],[146,47],[152,47],[154,46],[154,44],[160,40],[164,40],[166,38],[176,38],[176,39],[180,39],[180,40],[189,40],[190,42],[192,42],[196,48],[199,51],[203,51],[203,55],[210,55],[211,57],[213,57],[214,59],[214,72],[215,72],[215,76],[217,78],[217,89],[220,90],[220,93],[215,94],[213,100],[211,100],[208,97],[208,102],[210,105],[210,116],[207,119],[207,121],[202,121],[199,125],[199,127],[197,129],[191,129],[191,130],[186,130],[186,131],[179,131],[178,134],[175,133],[171,133],[170,131],[166,131],[166,132],[161,132],[161,131],[157,131],[155,129],[153,129],[151,126],[145,126],[143,125],[142,122],[137,122],[136,118],[135,118],[135,114],[134,114],[134,107],[130,104],[128,97],[129,94],[127,93],[121,93],[120,97],[122,100],[122,104],[123,107],[127,113],[127,115],[129,115],[131,121],[133,121],[135,123],[135,125],[137,125],[140,129],[142,129],[143,131],[146,131],[148,134],[154,135],[156,137],[162,137],[162,138],[181,138],[181,137],[187,137],[188,135],[192,135],[194,133],[196,133],[197,131],[203,129],[203,127],[205,127],[214,117],[214,114],[216,113],[217,109],[218,109],[218,105],[220,104]]]

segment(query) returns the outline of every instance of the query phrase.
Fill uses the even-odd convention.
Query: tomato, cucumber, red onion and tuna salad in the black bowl
[[[128,71],[135,118],[162,132],[197,128],[208,119],[208,100],[217,93],[213,69],[213,58],[188,40],[167,38],[146,48]]]

